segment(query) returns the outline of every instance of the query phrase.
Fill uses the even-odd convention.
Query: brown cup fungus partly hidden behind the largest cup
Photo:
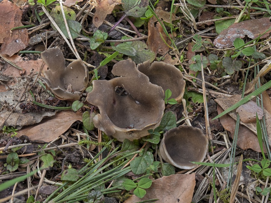
[[[182,100],[185,91],[185,81],[183,79],[182,72],[175,66],[164,62],[145,61],[137,65],[140,72],[147,75],[150,82],[155,85],[159,85],[164,91],[170,89],[172,92],[172,98],[177,102]]]

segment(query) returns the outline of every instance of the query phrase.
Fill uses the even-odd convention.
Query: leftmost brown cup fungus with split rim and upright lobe
[[[42,79],[47,87],[60,100],[78,100],[89,82],[89,72],[83,61],[74,60],[67,67],[61,50],[50,48],[41,53],[48,69],[43,72]]]

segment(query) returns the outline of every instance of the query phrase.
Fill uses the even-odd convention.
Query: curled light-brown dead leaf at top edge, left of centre
[[[114,7],[121,4],[121,0],[100,0],[97,2],[98,6],[95,7],[96,11],[92,20],[95,27],[99,27],[103,23],[107,14],[111,14]]]

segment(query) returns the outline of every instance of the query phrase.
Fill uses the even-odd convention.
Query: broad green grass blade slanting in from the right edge
[[[248,96],[241,99],[236,104],[232,105],[231,107],[229,107],[228,109],[226,109],[225,111],[223,111],[222,113],[217,115],[216,117],[214,117],[212,120],[214,120],[216,118],[220,118],[221,116],[229,113],[230,111],[232,111],[232,110],[236,109],[238,106],[241,106],[242,104],[248,102],[253,97],[256,97],[258,94],[262,93],[263,91],[267,90],[270,87],[271,87],[271,80],[269,82],[267,82],[266,84],[264,84],[263,86],[261,86],[260,88],[258,88],[257,90],[255,90],[254,92],[252,92],[251,94],[249,94]]]

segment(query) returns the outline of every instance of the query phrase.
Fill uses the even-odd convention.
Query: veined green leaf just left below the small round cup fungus
[[[143,174],[147,171],[150,165],[152,165],[154,158],[151,152],[143,152],[139,153],[139,157],[134,158],[131,163],[132,172],[136,175]]]

